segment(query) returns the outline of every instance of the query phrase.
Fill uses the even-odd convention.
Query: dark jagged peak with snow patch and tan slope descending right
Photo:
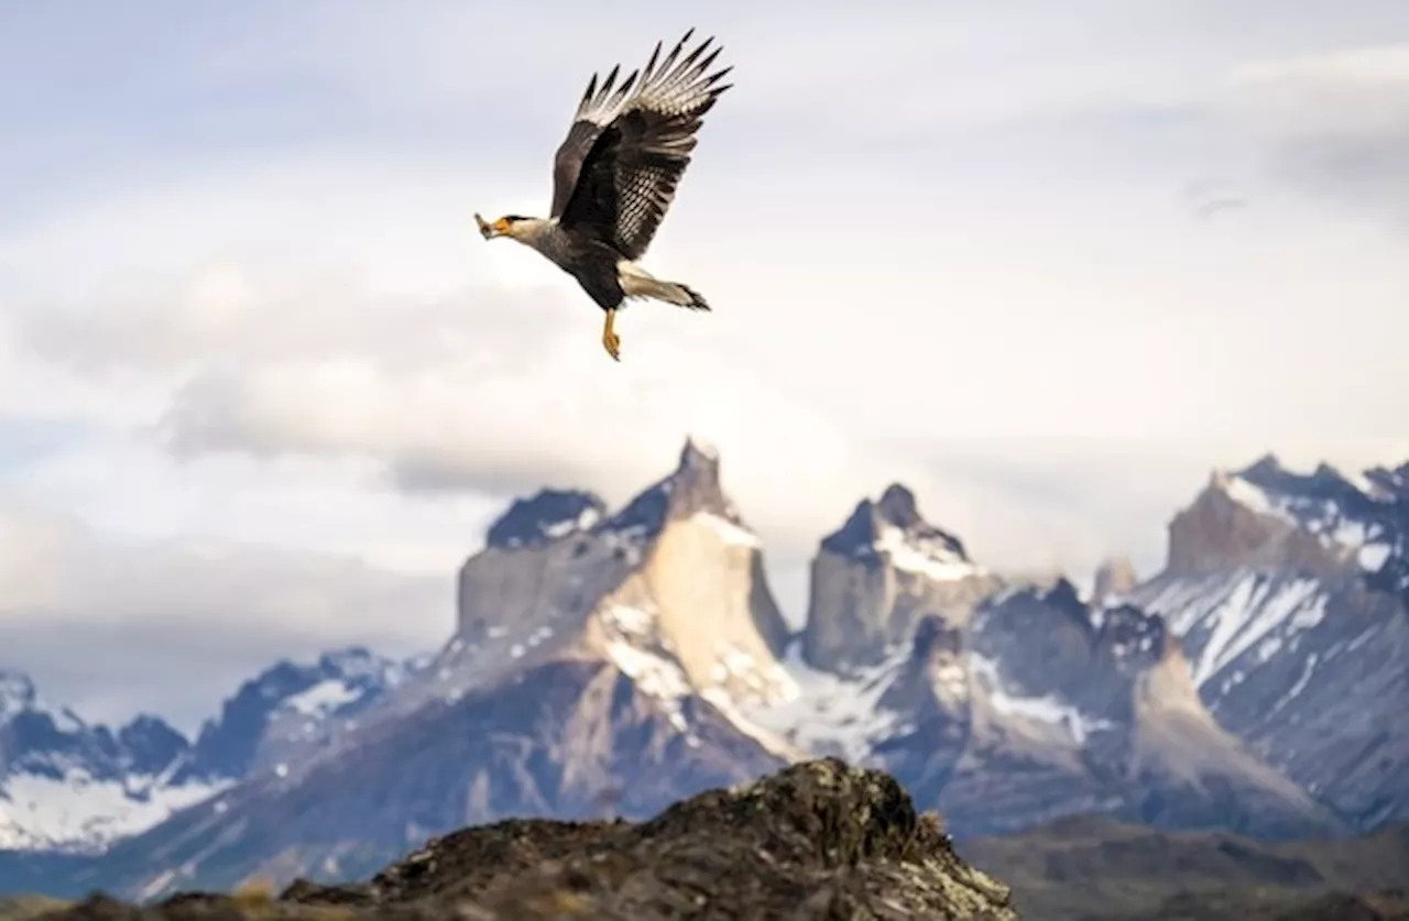
[[[1160,615],[1098,614],[1058,580],[995,599],[968,639],[978,706],[937,797],[951,821],[1012,831],[1037,813],[1105,813],[1261,837],[1344,829],[1216,722]]]

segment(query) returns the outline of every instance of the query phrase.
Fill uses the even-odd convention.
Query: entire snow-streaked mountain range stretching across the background
[[[503,817],[650,817],[803,758],[882,768],[964,841],[1099,814],[1339,838],[1409,818],[1409,465],[1215,472],[1168,559],[1019,579],[892,484],[790,631],[720,458],[620,510],[516,500],[433,655],[279,663],[196,739],[0,677],[0,891],[135,898],[371,873]]]

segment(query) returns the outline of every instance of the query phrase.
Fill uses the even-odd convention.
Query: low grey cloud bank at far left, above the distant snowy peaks
[[[451,579],[225,539],[117,539],[0,503],[3,665],[89,718],[158,711],[190,729],[276,656],[449,634]],[[278,651],[276,653],[273,651]]]

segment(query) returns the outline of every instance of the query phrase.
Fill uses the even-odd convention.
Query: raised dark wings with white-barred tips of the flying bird
[[[554,161],[552,217],[564,230],[590,230],[627,259],[645,252],[675,189],[689,166],[703,115],[731,84],[716,86],[733,70],[706,73],[721,48],[704,55],[713,38],[681,59],[675,45],[657,66],[655,45],[644,70],[616,86],[621,65],[597,86],[592,75],[572,128]]]

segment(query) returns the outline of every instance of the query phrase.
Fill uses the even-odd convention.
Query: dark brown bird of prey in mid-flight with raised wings
[[[709,73],[723,51],[704,55],[713,37],[681,58],[693,34],[685,32],[665,61],[657,42],[644,70],[633,70],[620,86],[620,63],[600,86],[592,75],[554,158],[548,217],[507,214],[486,223],[475,215],[485,239],[516,239],[578,279],[606,311],[602,345],[616,361],[621,338],[613,324],[627,299],[710,308],[690,286],[657,279],[637,262],[675,199],[704,113],[733,86],[719,86],[731,66]]]

